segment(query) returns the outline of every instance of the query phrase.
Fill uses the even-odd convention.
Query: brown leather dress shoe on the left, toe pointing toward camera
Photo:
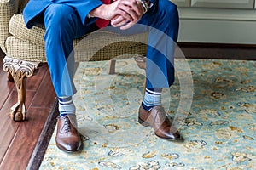
[[[79,150],[81,146],[80,134],[77,130],[75,115],[58,117],[56,145],[60,150],[73,152]]]

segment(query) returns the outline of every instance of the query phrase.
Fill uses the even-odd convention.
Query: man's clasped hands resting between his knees
[[[113,27],[125,30],[135,25],[143,16],[144,8],[140,0],[114,0],[90,11],[90,15],[111,20]]]

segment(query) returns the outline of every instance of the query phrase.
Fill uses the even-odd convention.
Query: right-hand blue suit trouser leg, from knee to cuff
[[[173,53],[178,34],[177,6],[161,0],[143,15],[148,26],[147,88],[169,88],[174,82]]]

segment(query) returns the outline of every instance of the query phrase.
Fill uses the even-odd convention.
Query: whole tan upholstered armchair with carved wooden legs
[[[46,62],[44,51],[44,26],[27,29],[22,10],[28,0],[0,0],[0,47],[5,53],[3,70],[8,72],[9,80],[15,82],[18,99],[10,108],[14,121],[26,119],[26,77],[32,77],[40,63]],[[86,41],[74,40],[82,51],[75,53],[76,61],[110,60],[109,73],[114,72],[115,59],[136,57],[137,65],[144,68],[145,45],[148,34],[121,36],[112,32],[90,34]]]

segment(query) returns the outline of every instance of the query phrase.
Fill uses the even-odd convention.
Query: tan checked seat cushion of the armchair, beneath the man
[[[9,22],[9,32],[12,35],[9,41],[15,42],[17,45],[15,48],[9,43],[10,47],[7,47],[7,53],[11,54],[10,56],[19,59],[21,57],[19,50],[24,48],[24,51],[27,50],[27,52],[23,52],[22,59],[45,61],[42,59],[42,57],[45,58],[45,54],[42,53],[42,49],[44,49],[44,26],[33,26],[32,29],[27,29],[22,14],[14,14]],[[129,58],[124,54],[145,55],[147,42],[148,32],[122,36],[108,31],[96,31],[74,40],[75,58],[77,61],[86,61],[108,60],[115,57]],[[26,54],[30,55],[26,56]]]

